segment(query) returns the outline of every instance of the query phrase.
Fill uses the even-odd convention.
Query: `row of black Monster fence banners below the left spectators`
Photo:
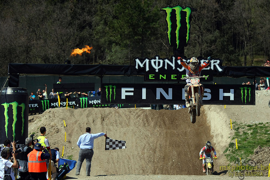
[[[88,108],[88,107],[118,107],[118,108],[132,108],[134,104],[102,104],[100,96],[93,97],[78,97],[60,99],[60,107],[69,108]],[[147,104],[140,104],[137,107],[149,107]],[[44,100],[31,100],[29,101],[29,113],[43,113],[44,111],[52,108],[58,108],[58,99],[44,99]]]

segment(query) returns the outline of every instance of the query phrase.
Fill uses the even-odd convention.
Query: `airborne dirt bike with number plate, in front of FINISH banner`
[[[196,116],[200,116],[200,108],[202,106],[202,86],[200,86],[200,78],[207,78],[207,76],[186,76],[181,79],[190,79],[190,86],[187,91],[189,93],[189,104],[188,113],[190,113],[190,122],[196,122]]]

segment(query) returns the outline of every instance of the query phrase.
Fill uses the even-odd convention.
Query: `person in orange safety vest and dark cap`
[[[42,153],[42,150],[44,153]],[[50,159],[50,154],[45,146],[40,143],[35,144],[35,148],[28,155],[28,171],[32,180],[47,180],[46,159]]]

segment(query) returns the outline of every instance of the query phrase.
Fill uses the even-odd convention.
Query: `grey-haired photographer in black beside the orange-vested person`
[[[28,158],[27,158],[27,155],[31,151],[33,151],[33,149],[30,146],[32,146],[32,138],[28,137],[25,139],[25,145],[23,145],[20,149],[18,149],[21,152],[17,155],[17,159],[19,161],[19,168],[18,168],[20,175],[19,179],[22,180],[28,180],[31,178],[28,172]]]

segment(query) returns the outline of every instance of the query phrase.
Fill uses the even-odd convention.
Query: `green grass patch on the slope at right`
[[[232,122],[232,124],[234,135],[223,152],[229,162],[236,162],[238,158],[247,159],[258,146],[269,146],[269,123],[246,125]],[[237,139],[238,149],[236,149],[235,139]]]

